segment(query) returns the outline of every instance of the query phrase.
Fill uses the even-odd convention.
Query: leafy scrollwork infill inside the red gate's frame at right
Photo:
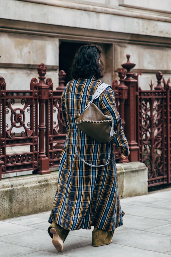
[[[148,178],[163,175],[163,103],[162,99],[142,99],[143,159]]]

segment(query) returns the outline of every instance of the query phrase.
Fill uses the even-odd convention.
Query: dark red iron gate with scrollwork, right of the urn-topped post
[[[151,89],[153,85],[150,85]],[[140,162],[148,168],[148,186],[168,183],[166,90],[139,89]],[[169,149],[170,152],[170,149]]]

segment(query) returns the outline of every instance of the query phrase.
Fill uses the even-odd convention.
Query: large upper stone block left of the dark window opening
[[[0,33],[1,63],[58,66],[58,38],[17,33]],[[22,67],[20,67],[22,68]]]

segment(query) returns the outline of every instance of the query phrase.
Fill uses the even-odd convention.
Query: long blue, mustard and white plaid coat
[[[74,79],[68,82],[62,94],[62,112],[67,128],[60,166],[58,188],[49,223],[55,221],[67,230],[91,226],[113,231],[123,224],[117,170],[113,152],[113,141],[100,144],[83,132],[78,137],[78,154],[93,165],[105,164],[111,148],[107,166],[95,168],[83,163],[76,155],[78,128],[75,121],[83,112],[101,80],[95,77]],[[105,114],[114,118],[115,144],[125,156],[129,155],[128,142],[123,133],[121,119],[116,110],[114,92],[107,87],[94,101]]]

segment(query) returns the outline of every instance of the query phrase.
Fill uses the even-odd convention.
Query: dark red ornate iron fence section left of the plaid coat
[[[0,77],[0,179],[2,174],[28,170],[50,173],[50,168],[59,166],[66,137],[61,112],[66,74],[59,72],[59,87],[54,91],[52,80],[45,82],[46,66],[41,63],[37,71],[39,82],[32,78],[28,91],[8,91]]]

